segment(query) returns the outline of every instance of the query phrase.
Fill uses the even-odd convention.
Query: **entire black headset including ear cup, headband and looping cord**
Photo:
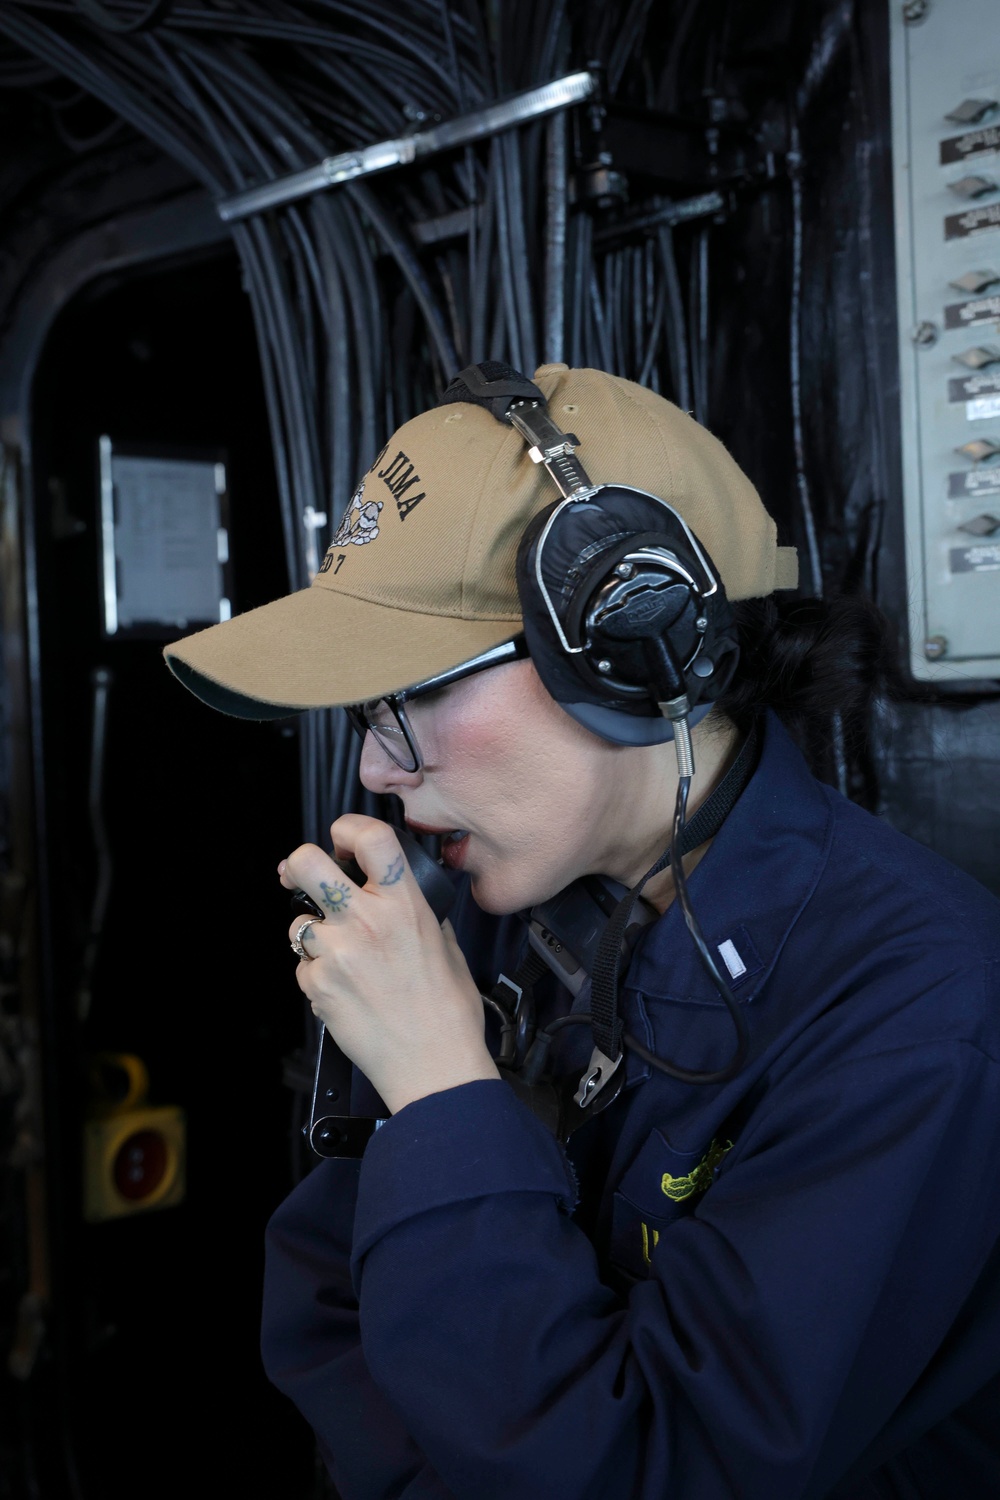
[[[688,830],[694,774],[690,730],[726,692],[739,660],[733,612],[715,564],[666,500],[630,484],[594,484],[574,452],[580,440],[556,426],[544,394],[510,364],[487,360],[468,366],[439,405],[456,400],[483,406],[516,428],[531,459],[546,466],[559,489],[561,498],[532,518],[517,550],[525,638],[544,687],[601,738],[622,746],[673,740],[678,756],[670,848],[625,892],[604,926],[591,970],[591,1011],[555,1023],[586,1020],[594,1032],[591,1062],[573,1104],[564,1100],[559,1106],[561,1119],[567,1108],[574,1112],[574,1124],[567,1126],[571,1130],[595,1100],[610,1102],[616,1096],[622,1047],[685,1083],[721,1083],[745,1062],[747,1022],[691,910],[682,856],[721,825],[753,774],[756,734]],[[699,820],[703,826],[693,838]],[[729,1062],[712,1071],[691,1071],[657,1058],[624,1030],[618,1017],[622,945],[634,904],[646,882],[667,864],[702,964],[736,1030]],[[534,1090],[555,1026],[535,1038],[520,1078],[511,1076],[532,1107],[538,1107]]]

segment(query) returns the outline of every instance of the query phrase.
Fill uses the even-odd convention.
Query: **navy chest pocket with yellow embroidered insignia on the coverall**
[[[610,1260],[630,1281],[649,1275],[660,1236],[702,1202],[732,1148],[726,1136],[703,1150],[675,1150],[654,1131],[618,1185],[612,1203]]]

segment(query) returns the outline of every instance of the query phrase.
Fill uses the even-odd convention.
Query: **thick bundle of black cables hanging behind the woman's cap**
[[[222,200],[547,82],[580,57],[604,62],[613,94],[640,62],[649,9],[16,0],[0,10],[0,34],[51,69],[39,80],[70,80]],[[234,224],[292,588],[307,585],[385,434],[469,362],[594,364],[685,406],[694,393],[705,416],[706,342],[700,357],[690,346],[672,231],[595,242],[591,208],[570,202],[574,129],[556,114]],[[697,267],[702,326],[706,242]],[[316,514],[325,524],[309,526]],[[309,837],[348,807],[379,812],[357,786],[340,714],[306,716],[301,744]]]

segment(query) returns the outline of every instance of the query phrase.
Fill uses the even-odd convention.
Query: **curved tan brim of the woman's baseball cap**
[[[202,702],[237,718],[286,718],[394,693],[510,640],[520,620],[462,620],[303,588],[163,650]]]

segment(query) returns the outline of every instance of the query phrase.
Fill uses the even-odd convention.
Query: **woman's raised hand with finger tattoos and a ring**
[[[393,1114],[426,1094],[499,1077],[451,924],[438,924],[393,830],[346,813],[330,832],[336,858],[364,870],[364,886],[316,844],[300,844],[279,866],[282,885],[306,891],[325,915],[306,928],[309,957],[295,970],[313,1016]]]

